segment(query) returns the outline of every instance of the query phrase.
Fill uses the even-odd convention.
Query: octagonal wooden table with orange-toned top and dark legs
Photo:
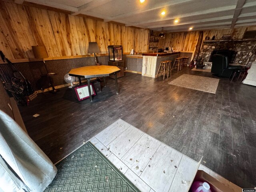
[[[92,102],[92,93],[91,93],[91,89],[90,89],[90,79],[95,78],[95,77],[103,77],[104,86],[106,86],[105,77],[114,74],[115,81],[116,81],[116,94],[119,94],[118,84],[117,84],[117,77],[116,77],[116,74],[118,72],[120,72],[120,69],[116,66],[94,65],[94,66],[74,68],[74,69],[70,70],[70,72],[68,72],[68,74],[70,76],[78,77],[79,84],[82,84],[81,77],[87,79],[90,102]]]

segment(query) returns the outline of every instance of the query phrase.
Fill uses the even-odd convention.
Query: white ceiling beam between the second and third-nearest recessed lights
[[[235,8],[236,8],[236,6],[234,5],[234,6],[226,6],[226,7],[222,7],[222,8],[208,9],[208,10],[204,10],[204,11],[186,13],[186,14],[179,15],[179,16],[171,16],[171,17],[166,17],[166,18],[158,18],[158,19],[153,19],[153,20],[136,22],[136,23],[134,23],[134,25],[145,25],[145,24],[151,23],[151,22],[160,22],[160,21],[171,20],[171,19],[176,19],[176,18],[183,18],[183,17],[189,17],[189,16],[200,16],[200,15],[203,15],[203,14],[210,14],[210,13],[233,10]]]

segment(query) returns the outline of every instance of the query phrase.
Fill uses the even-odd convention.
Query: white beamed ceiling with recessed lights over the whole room
[[[22,4],[24,0],[14,0]],[[114,21],[126,26],[165,32],[256,25],[256,0],[26,0]],[[162,15],[161,12],[166,14]],[[178,20],[177,23],[174,21]]]

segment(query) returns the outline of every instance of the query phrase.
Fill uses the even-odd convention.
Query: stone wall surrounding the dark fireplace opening
[[[234,64],[247,64],[250,67],[256,60],[256,40],[215,40],[204,41],[201,47],[200,56],[204,62],[208,62],[213,50],[234,50],[237,52]]]

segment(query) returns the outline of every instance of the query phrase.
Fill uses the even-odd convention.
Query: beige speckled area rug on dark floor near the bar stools
[[[216,93],[219,79],[183,74],[169,82],[169,84],[200,90],[209,93]]]

